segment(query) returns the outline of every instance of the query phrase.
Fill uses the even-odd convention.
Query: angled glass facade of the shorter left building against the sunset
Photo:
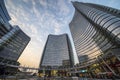
[[[17,61],[30,38],[17,26],[0,39],[0,57]]]

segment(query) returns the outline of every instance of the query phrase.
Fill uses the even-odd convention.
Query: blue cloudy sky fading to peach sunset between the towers
[[[49,34],[68,33],[72,42],[69,23],[74,15],[74,7],[71,1],[89,2],[120,9],[120,0],[5,0],[11,16],[10,23],[18,25],[31,37],[31,41],[18,60],[22,66],[36,68],[39,66]],[[76,57],[75,60],[77,62]]]

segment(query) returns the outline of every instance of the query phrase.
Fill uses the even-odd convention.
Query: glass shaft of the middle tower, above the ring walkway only
[[[65,62],[69,66],[74,64],[72,47],[68,35],[49,35],[43,51],[40,67],[59,67],[63,66]]]

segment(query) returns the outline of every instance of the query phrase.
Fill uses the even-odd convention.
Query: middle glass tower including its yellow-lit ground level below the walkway
[[[40,75],[46,73],[46,76],[66,76],[66,71],[59,69],[73,65],[73,51],[68,35],[48,35],[40,62],[40,69],[43,70],[39,70]]]

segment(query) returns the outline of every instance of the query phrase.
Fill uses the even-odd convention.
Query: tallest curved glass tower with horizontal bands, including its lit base
[[[93,62],[87,65],[93,74],[120,74],[120,10],[92,3],[72,3],[75,13],[69,26],[78,58],[88,56],[82,62]]]

